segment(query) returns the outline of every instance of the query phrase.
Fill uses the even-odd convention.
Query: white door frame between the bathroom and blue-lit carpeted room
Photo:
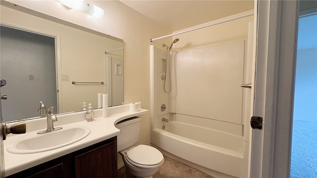
[[[292,114],[299,1],[258,0],[251,178],[290,177]]]

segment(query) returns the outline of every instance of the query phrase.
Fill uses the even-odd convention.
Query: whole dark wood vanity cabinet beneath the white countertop
[[[116,136],[6,178],[116,178]]]

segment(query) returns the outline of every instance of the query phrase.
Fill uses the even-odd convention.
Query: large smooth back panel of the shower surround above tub
[[[245,42],[182,50],[176,59],[176,113],[242,124]]]

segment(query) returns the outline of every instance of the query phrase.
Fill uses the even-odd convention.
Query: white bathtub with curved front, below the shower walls
[[[151,132],[151,142],[182,159],[239,178],[248,172],[249,143],[242,136],[182,122],[163,123]]]

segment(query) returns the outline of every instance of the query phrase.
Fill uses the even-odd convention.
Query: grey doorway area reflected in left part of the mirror
[[[0,39],[3,118],[36,117],[39,101],[56,110],[55,38],[1,25]]]

